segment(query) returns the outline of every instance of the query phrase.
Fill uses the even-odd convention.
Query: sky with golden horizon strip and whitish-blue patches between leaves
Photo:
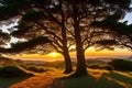
[[[132,23],[132,12],[131,13],[128,13],[125,15],[125,18],[123,20],[121,20],[121,22],[124,22],[124,21],[129,21],[128,23],[131,24]],[[15,23],[14,23],[15,25]],[[11,26],[10,26],[11,28]],[[3,26],[2,28],[4,32],[8,32],[7,26]],[[11,38],[11,43],[14,43],[19,40],[12,37]],[[86,55],[86,58],[97,58],[97,57],[124,57],[124,56],[131,56],[132,55],[132,52],[128,51],[127,48],[124,50],[120,50],[120,48],[116,48],[114,51],[100,51],[100,52],[97,52],[94,47],[90,47],[89,50],[86,51],[85,53]],[[72,52],[70,53],[70,56],[72,58],[76,58],[76,53],[75,52]],[[8,57],[11,57],[11,58],[15,58],[15,59],[28,59],[28,61],[58,61],[58,59],[63,59],[63,56],[58,53],[50,53],[47,55],[37,55],[37,54],[33,54],[33,55],[26,55],[26,54],[23,54],[23,55],[12,55],[12,56],[8,56]]]

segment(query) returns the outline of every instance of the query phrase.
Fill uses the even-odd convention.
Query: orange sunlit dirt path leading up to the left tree
[[[42,75],[31,77],[21,82],[14,84],[10,86],[9,88],[51,88],[51,84],[53,84],[53,80],[55,78],[64,76],[61,73],[62,72],[58,72],[58,70],[47,72]]]

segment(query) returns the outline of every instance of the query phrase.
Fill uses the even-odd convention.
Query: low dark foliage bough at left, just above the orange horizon
[[[2,54],[47,54],[51,52],[48,43],[51,41],[47,37],[38,36],[24,42],[11,43],[11,47],[1,47],[0,52]],[[42,48],[43,46],[43,48]]]

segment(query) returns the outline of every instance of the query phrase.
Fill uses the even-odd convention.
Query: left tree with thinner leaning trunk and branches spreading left
[[[52,0],[1,0],[0,16],[1,20],[8,19],[8,21],[14,16],[20,20],[19,30],[11,33],[16,37],[31,40],[37,36],[48,36],[52,41],[51,45],[65,58],[65,73],[70,73],[73,72],[68,52],[70,45],[67,45],[63,13],[59,12],[62,19],[57,18],[58,9],[55,6],[56,3]]]

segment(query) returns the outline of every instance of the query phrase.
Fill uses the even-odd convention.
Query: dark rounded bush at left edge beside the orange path
[[[16,66],[6,66],[0,68],[0,77],[20,77],[20,76],[31,76],[24,70],[20,69]]]

